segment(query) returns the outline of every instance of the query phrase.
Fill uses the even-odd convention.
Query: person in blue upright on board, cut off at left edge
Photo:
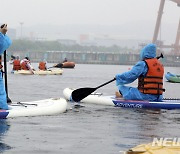
[[[0,28],[0,56],[12,44],[12,41],[6,35],[6,32],[7,32],[7,24],[3,24]],[[1,69],[0,71],[0,89],[1,89],[0,90],[0,109],[7,110],[8,109],[7,94],[6,94],[5,85],[3,81],[2,65],[0,66],[0,69]]]

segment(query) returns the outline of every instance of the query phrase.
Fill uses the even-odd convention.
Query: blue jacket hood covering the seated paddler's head
[[[140,52],[140,59],[144,60],[146,58],[155,58],[156,57],[156,45],[148,44]]]

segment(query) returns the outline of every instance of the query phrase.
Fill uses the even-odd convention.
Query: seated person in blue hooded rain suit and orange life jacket
[[[140,61],[122,74],[116,74],[116,86],[126,100],[162,101],[164,67],[156,58],[156,45],[148,44],[140,52]],[[138,87],[125,86],[138,79]]]

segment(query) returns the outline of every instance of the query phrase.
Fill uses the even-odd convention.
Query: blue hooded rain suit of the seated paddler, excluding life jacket
[[[133,68],[122,74],[116,75],[116,86],[124,99],[131,100],[149,100],[149,101],[162,101],[162,95],[143,94],[135,87],[128,87],[124,84],[129,84],[135,81],[140,75],[146,75],[148,67],[143,61],[145,58],[156,57],[156,45],[148,44],[140,52],[141,61],[137,62]]]

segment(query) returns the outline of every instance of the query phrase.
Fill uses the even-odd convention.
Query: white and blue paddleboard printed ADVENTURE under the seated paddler
[[[73,89],[65,88],[63,95],[66,100],[71,100]],[[148,100],[124,100],[115,96],[104,96],[101,93],[92,93],[83,100],[82,103],[110,105],[123,108],[144,108],[144,109],[180,109],[180,99],[164,99],[162,102],[150,102]]]

